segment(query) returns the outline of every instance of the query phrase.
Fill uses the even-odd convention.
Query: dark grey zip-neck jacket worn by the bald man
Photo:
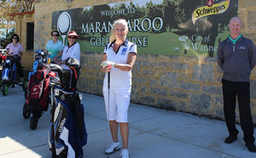
[[[218,44],[217,55],[218,65],[224,71],[224,80],[249,82],[256,64],[256,48],[252,40],[241,36],[233,44],[228,37]]]

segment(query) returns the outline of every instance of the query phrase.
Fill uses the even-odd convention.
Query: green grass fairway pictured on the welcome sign
[[[221,33],[216,38],[216,47],[218,47],[218,38],[221,38],[221,41],[224,40],[229,35],[227,31]],[[96,33],[94,37],[101,37],[100,33]],[[103,46],[91,46],[88,41],[78,41],[80,43],[80,48],[82,52],[103,52],[104,46],[106,43],[106,37],[104,38]],[[137,47],[138,54],[166,54],[166,55],[182,55],[182,56],[205,56],[207,51],[205,50],[194,50],[191,41],[188,39],[186,42],[189,42],[189,50],[186,51],[183,47],[182,41],[179,41],[179,35],[172,32],[164,32],[160,34],[153,33],[143,33],[143,32],[129,32],[127,37],[148,37],[148,47]],[[137,44],[138,46],[139,44]],[[204,45],[201,45],[204,47]],[[214,55],[216,56],[216,51]]]

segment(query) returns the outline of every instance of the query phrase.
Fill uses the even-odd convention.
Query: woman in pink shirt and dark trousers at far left
[[[24,82],[24,74],[21,67],[21,57],[23,55],[23,47],[20,44],[20,37],[17,34],[14,34],[12,37],[12,42],[9,43],[6,47],[6,54],[15,56],[15,64],[17,66],[17,72],[20,76],[20,82]],[[15,84],[12,85],[15,87]]]

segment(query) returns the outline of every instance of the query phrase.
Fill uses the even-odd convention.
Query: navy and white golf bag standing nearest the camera
[[[49,150],[53,157],[80,158],[82,147],[87,143],[84,123],[84,104],[81,102],[76,84],[79,79],[80,65],[75,59],[67,59],[64,67],[53,68],[56,76],[51,78],[52,101],[49,126]],[[53,95],[53,94],[52,94]]]

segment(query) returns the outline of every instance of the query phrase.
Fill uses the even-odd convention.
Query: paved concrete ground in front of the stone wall
[[[103,98],[83,93],[88,144],[85,158],[107,158],[108,124]],[[29,120],[21,114],[25,103],[21,87],[9,89],[9,95],[0,94],[0,157],[37,158],[51,157],[48,147],[49,111],[32,131]],[[129,108],[131,158],[255,158],[247,150],[241,127],[238,140],[224,144],[228,135],[224,121],[186,113],[154,109],[140,104]],[[254,136],[256,136],[254,134]],[[117,158],[119,152],[109,155]]]

